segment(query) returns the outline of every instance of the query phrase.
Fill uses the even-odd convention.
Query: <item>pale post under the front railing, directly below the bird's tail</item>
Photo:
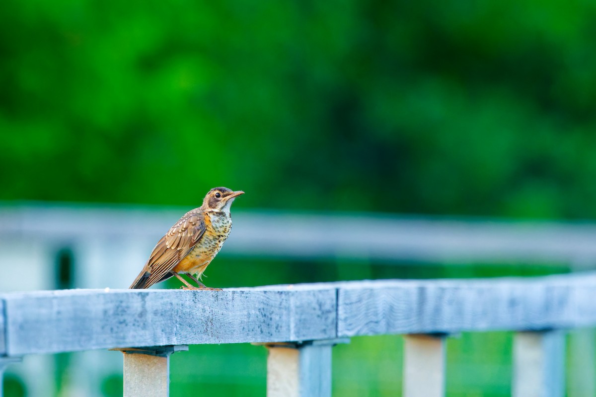
[[[124,353],[123,397],[167,397],[170,392],[170,355],[187,345],[115,349]]]

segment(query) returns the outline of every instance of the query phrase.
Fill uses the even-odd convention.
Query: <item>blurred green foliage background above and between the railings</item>
[[[187,210],[228,186],[247,192],[239,211],[590,220],[595,18],[557,0],[4,0],[0,200]],[[567,271],[216,261],[223,287]],[[451,340],[449,395],[508,395],[510,347]],[[54,395],[72,395],[69,357]],[[334,393],[395,395],[400,368],[400,337],[355,338],[334,351]],[[171,389],[263,395],[265,350],[191,346]],[[18,376],[5,390],[27,395]]]

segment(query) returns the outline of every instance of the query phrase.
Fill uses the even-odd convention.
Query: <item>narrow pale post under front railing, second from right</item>
[[[403,397],[445,395],[446,335],[404,335]]]

